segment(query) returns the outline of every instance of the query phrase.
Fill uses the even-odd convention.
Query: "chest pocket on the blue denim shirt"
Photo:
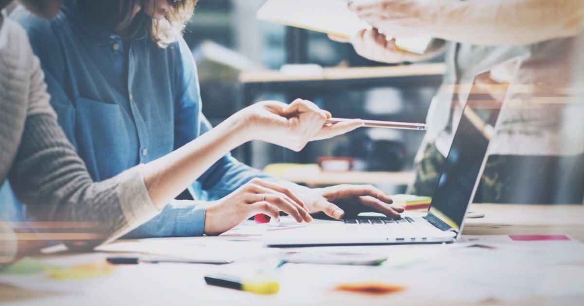
[[[75,102],[78,152],[93,179],[105,180],[135,166],[137,134],[124,109],[87,98]]]

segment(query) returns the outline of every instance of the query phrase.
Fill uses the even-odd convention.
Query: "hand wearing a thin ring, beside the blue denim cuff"
[[[308,209],[293,192],[285,187],[254,178],[230,195],[211,203],[205,212],[206,235],[219,235],[249,217],[266,214],[279,219],[280,211],[298,222],[311,222]]]

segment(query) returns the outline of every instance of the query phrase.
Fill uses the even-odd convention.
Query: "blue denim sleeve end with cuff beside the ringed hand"
[[[201,202],[173,200],[158,216],[127,233],[123,238],[203,236],[205,211],[205,206]]]

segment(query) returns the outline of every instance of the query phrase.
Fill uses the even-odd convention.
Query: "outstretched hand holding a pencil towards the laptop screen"
[[[331,138],[363,126],[358,119],[325,125],[331,113],[303,99],[296,99],[291,104],[262,101],[238,114],[244,116],[252,139],[294,151],[300,151],[312,140]]]

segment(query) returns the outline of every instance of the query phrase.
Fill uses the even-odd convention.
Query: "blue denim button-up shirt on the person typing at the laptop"
[[[124,46],[119,35],[89,22],[69,0],[51,20],[23,8],[11,17],[29,35],[58,122],[94,180],[155,160],[211,129],[182,37],[163,49],[143,29]],[[130,48],[128,63],[124,48]],[[203,235],[200,201],[224,197],[253,177],[265,175],[227,154],[189,187],[199,202],[173,201],[128,237]]]

